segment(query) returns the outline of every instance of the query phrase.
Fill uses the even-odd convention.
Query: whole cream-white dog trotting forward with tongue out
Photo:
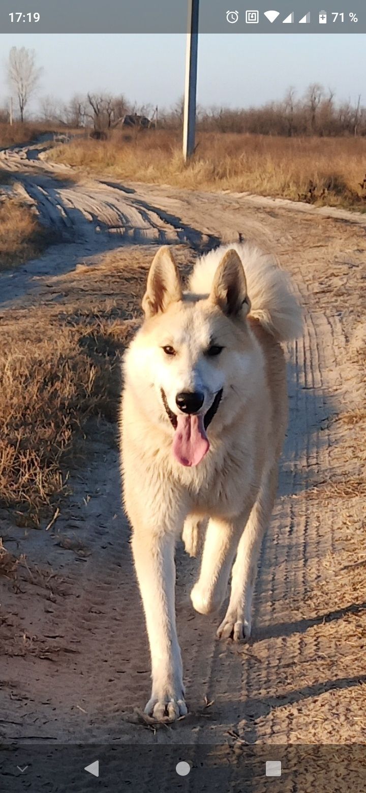
[[[287,421],[280,342],[301,316],[288,279],[255,247],[202,257],[183,292],[169,247],[155,255],[145,320],[125,356],[121,412],[124,503],[151,648],[146,712],[185,714],[174,606],[174,547],[183,530],[200,577],[200,614],[231,597],[218,635],[250,636],[261,538],[276,493]]]

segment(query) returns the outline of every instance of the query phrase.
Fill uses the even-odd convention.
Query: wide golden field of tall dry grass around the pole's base
[[[115,132],[106,141],[76,138],[50,159],[75,168],[191,189],[249,191],[362,209],[363,138],[283,138],[200,132],[188,166],[176,132]]]

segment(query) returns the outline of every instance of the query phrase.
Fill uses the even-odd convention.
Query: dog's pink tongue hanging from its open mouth
[[[181,465],[198,465],[210,444],[204,429],[204,416],[177,416],[173,454]]]

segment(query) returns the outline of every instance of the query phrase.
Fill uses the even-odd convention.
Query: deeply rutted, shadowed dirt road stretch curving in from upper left
[[[23,197],[35,207],[46,228],[73,241],[90,242],[101,232],[116,235],[114,242],[109,241],[110,247],[121,242],[208,244],[207,236],[182,224],[178,217],[158,212],[135,197],[135,190],[121,190],[95,179],[74,182],[71,169],[29,157],[32,151],[37,155],[36,144],[0,151],[0,162],[17,179]]]

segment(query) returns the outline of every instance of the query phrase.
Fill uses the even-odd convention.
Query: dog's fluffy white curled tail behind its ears
[[[202,256],[189,280],[195,294],[210,293],[215,271],[227,251],[234,249],[242,260],[250,299],[249,316],[280,342],[301,335],[302,312],[292,294],[290,278],[276,266],[273,258],[250,243],[221,246]]]

